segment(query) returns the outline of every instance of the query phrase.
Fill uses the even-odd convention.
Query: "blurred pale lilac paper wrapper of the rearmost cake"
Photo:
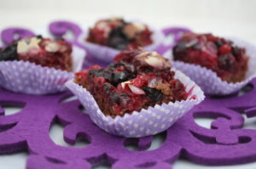
[[[149,27],[152,34],[153,43],[143,47],[143,49],[147,51],[154,51],[161,42],[165,39],[164,34],[160,30],[156,30],[154,28]],[[87,48],[88,52],[97,60],[101,60],[103,63],[111,63],[113,62],[113,58],[115,55],[120,53],[120,50],[115,48],[109,48],[106,46],[102,46],[93,42],[86,42],[85,39],[88,37],[88,30],[83,33],[82,36],[79,37],[79,42],[84,44],[85,48]]]

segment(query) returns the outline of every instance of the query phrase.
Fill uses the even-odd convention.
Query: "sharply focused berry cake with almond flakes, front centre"
[[[138,48],[118,54],[105,69],[95,65],[76,73],[75,82],[92,94],[105,115],[114,117],[187,99],[174,75],[167,59]]]

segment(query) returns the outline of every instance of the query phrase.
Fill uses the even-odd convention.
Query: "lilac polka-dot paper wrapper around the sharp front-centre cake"
[[[192,82],[188,76],[183,75],[180,71],[175,71],[175,78],[183,82],[186,91],[189,93],[187,100],[170,102],[169,104],[156,104],[154,107],[149,107],[148,110],[133,111],[131,115],[125,114],[123,117],[118,115],[112,118],[104,115],[93,96],[73,80],[68,81],[66,86],[79,98],[86,112],[90,115],[90,119],[98,127],[114,135],[140,138],[165,131],[195,104],[201,103],[205,98],[201,88],[195,82]],[[191,99],[193,97],[196,99]]]

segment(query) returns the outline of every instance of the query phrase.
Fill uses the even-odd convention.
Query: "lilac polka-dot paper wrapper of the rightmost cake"
[[[201,87],[204,93],[209,95],[228,95],[236,93],[247,85],[254,77],[256,77],[256,48],[248,43],[243,42],[236,37],[229,37],[238,47],[244,47],[247,50],[248,70],[246,78],[242,82],[230,83],[224,82],[217,76],[215,72],[200,65],[187,64],[181,61],[174,61],[172,67],[181,70],[185,75],[189,76],[197,85]]]

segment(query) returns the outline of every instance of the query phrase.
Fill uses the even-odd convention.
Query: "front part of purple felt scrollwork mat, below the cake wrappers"
[[[170,168],[180,155],[212,166],[256,161],[256,131],[241,129],[241,113],[256,115],[256,79],[248,87],[252,90],[244,94],[207,98],[169,128],[166,141],[154,150],[148,150],[152,136],[128,139],[103,132],[78,100],[62,102],[72,96],[69,92],[35,96],[0,88],[0,105],[22,108],[14,115],[4,115],[0,109],[0,154],[28,150],[26,168],[33,169],[84,169],[100,161],[108,161],[113,168]],[[212,129],[198,126],[195,117],[199,116],[216,118]],[[67,144],[78,138],[90,144],[82,148],[55,144],[49,138],[55,121],[64,126]],[[137,144],[139,151],[125,148],[128,144]]]

